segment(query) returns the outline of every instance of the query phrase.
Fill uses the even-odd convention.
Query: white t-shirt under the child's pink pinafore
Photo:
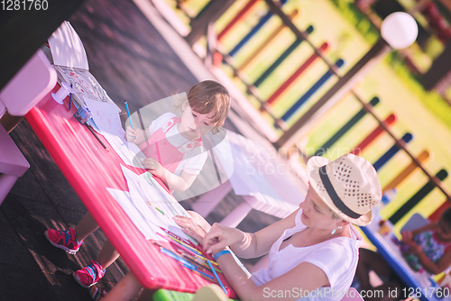
[[[172,113],[165,113],[157,119],[153,120],[151,125],[149,126],[149,132],[151,133],[151,135],[158,129],[161,129],[161,127],[164,124],[168,123],[168,121],[170,121],[170,119],[173,117],[177,117],[177,115]],[[170,144],[174,147],[180,147],[183,144],[189,142],[188,139],[181,135],[181,133],[177,129],[177,125],[172,126],[168,132],[165,132],[165,136]],[[184,170],[189,174],[198,175],[200,173],[200,170],[202,170],[202,167],[204,166],[206,160],[207,151],[202,147],[202,150],[198,151],[197,155],[190,156],[189,159],[181,160],[179,162],[179,166],[173,173],[174,175],[179,176],[181,174],[181,171]]]

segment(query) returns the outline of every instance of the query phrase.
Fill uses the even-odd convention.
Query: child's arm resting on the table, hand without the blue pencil
[[[152,158],[144,159],[143,167],[145,169],[149,169],[152,175],[161,178],[161,180],[164,184],[166,184],[167,187],[175,191],[187,190],[191,186],[191,184],[193,184],[194,180],[198,177],[198,175],[189,174],[186,171],[182,171],[180,176],[176,176],[168,169],[163,168],[160,162]]]

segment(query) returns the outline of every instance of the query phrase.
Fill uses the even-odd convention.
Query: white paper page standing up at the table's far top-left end
[[[60,27],[51,34],[49,44],[54,65],[89,69],[83,43],[68,21],[61,23]]]

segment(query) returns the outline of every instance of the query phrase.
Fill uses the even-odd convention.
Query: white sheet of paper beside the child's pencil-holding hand
[[[124,163],[142,168],[141,158],[145,159],[145,156],[136,144],[125,140],[125,131],[116,105],[100,103],[89,98],[85,98],[85,103],[97,128]]]

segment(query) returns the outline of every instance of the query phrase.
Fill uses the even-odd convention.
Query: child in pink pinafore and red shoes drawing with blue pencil
[[[147,157],[142,162],[145,169],[161,178],[170,190],[185,191],[207,160],[207,152],[201,150],[199,135],[218,132],[217,127],[224,124],[229,108],[230,96],[226,87],[206,80],[191,87],[188,100],[177,105],[181,117],[162,114],[145,131],[127,127],[125,138],[139,144],[143,150]],[[149,139],[145,140],[145,137]],[[98,224],[87,213],[75,229],[69,227],[64,232],[48,229],[44,235],[53,246],[75,254],[83,240],[97,229]],[[73,276],[82,287],[91,287],[118,257],[111,242],[106,241],[97,260],[91,260]]]

